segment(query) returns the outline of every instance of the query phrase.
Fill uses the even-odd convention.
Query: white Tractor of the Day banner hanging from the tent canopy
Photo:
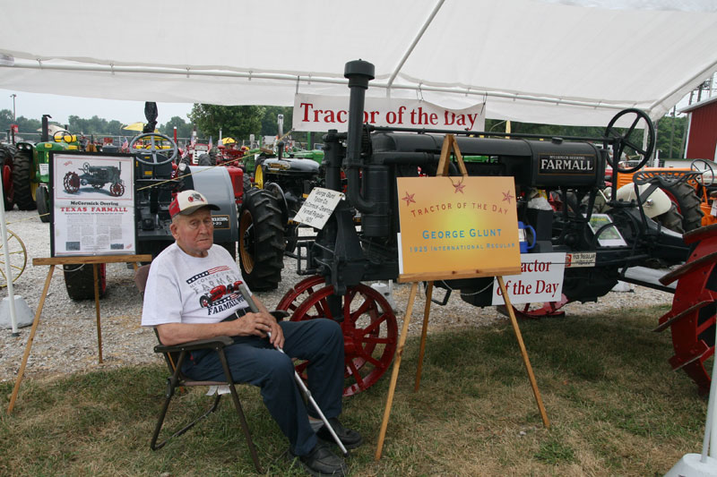
[[[465,109],[446,109],[428,101],[401,98],[366,98],[363,122],[375,126],[483,131],[485,103]],[[298,94],[294,97],[295,131],[345,132],[349,127],[349,98]]]

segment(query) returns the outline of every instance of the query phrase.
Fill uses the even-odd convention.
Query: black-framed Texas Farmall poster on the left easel
[[[49,169],[53,257],[136,252],[132,155],[51,152]]]

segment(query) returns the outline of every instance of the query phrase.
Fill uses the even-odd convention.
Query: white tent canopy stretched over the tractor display
[[[0,88],[220,105],[368,96],[487,116],[604,125],[653,119],[717,69],[712,0],[3,0]]]

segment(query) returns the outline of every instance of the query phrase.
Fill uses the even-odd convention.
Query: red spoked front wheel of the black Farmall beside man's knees
[[[328,297],[333,286],[324,286],[302,302],[291,316],[292,321],[328,318],[333,316]],[[343,396],[352,396],[370,388],[384,375],[393,360],[398,342],[398,326],[391,305],[384,296],[370,286],[350,286],[341,297],[345,387]],[[302,374],[307,362],[300,362],[297,371]]]

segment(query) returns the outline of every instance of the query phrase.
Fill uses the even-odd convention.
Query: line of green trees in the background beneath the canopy
[[[200,139],[208,140],[210,137],[216,143],[219,140],[220,130],[222,137],[232,137],[237,141],[247,140],[251,134],[256,139],[262,136],[275,136],[279,133],[277,116],[283,115],[283,132],[291,130],[291,118],[293,107],[291,106],[217,106],[196,103],[192,111],[187,115],[188,121],[179,116],[173,116],[160,124],[160,132],[172,136],[174,127],[177,126],[177,137],[191,137],[194,127]],[[161,115],[161,111],[160,111]],[[91,118],[81,118],[77,115],[69,116],[69,124],[60,124],[70,132],[82,133],[84,135],[113,135],[130,136],[138,132],[122,129],[124,124],[117,120],[100,118],[97,115]],[[0,132],[6,132],[13,124],[13,113],[9,109],[0,109]],[[38,132],[41,127],[39,119],[30,119],[24,116],[17,118],[20,132]],[[687,133],[687,117],[666,115],[656,124],[657,145],[661,158],[681,158],[685,147],[685,135]],[[505,131],[505,121],[496,119],[486,120],[486,131]],[[546,136],[579,136],[579,137],[601,137],[605,132],[604,127],[585,126],[558,126],[550,124],[515,123],[511,124],[511,132],[523,132],[530,134],[544,134]],[[299,142],[307,142],[306,132],[292,132],[292,139]],[[321,141],[321,133],[314,137],[314,141]]]

